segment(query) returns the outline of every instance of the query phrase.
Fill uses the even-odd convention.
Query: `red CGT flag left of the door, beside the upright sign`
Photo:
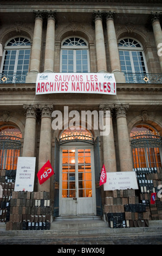
[[[53,174],[54,174],[54,170],[51,167],[50,161],[48,160],[37,173],[37,177],[40,182],[40,185],[43,184],[44,181],[48,180],[50,176],[52,176]]]

